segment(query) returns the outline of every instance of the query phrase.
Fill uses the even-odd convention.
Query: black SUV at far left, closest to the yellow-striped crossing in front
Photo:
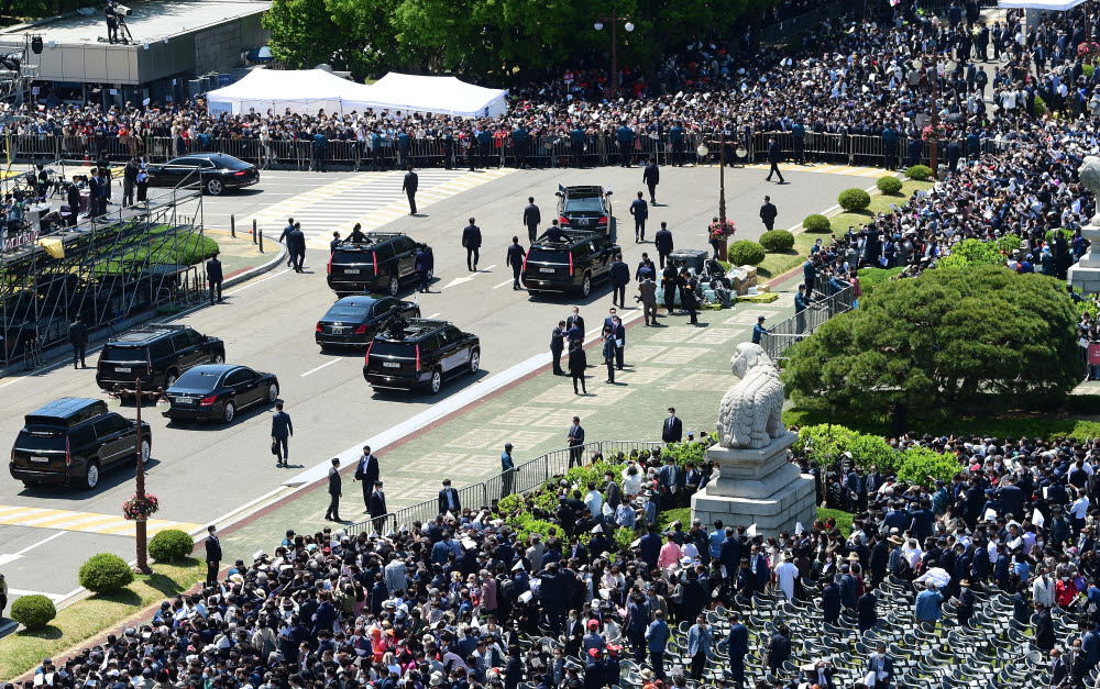
[[[100,470],[138,456],[138,422],[107,410],[103,400],[65,397],[24,418],[8,470],[28,486],[72,484],[91,490]],[[153,436],[142,422],[142,459]]]

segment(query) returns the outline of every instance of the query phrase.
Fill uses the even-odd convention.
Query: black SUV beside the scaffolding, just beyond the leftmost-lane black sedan
[[[111,340],[99,353],[96,382],[103,390],[130,390],[138,378],[146,390],[168,389],[199,364],[226,360],[226,343],[188,325],[145,325]]]

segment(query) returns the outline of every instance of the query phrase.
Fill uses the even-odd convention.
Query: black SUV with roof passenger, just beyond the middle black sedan
[[[396,297],[402,280],[416,276],[416,252],[428,254],[431,279],[432,254],[402,232],[367,232],[365,242],[345,242],[329,257],[329,288],[338,296],[378,292]]]

